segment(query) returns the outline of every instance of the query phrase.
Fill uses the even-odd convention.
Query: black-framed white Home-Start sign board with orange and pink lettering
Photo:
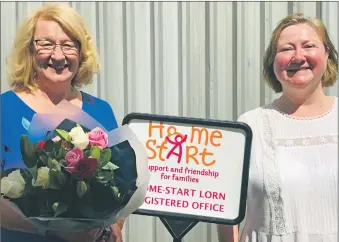
[[[250,127],[240,122],[131,113],[151,172],[136,214],[238,224],[245,216]]]

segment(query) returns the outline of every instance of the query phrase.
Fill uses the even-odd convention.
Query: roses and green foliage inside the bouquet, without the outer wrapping
[[[108,135],[100,128],[85,133],[80,125],[55,131],[55,138],[34,144],[21,137],[27,169],[3,176],[1,193],[26,216],[104,218],[120,208],[126,201]]]

